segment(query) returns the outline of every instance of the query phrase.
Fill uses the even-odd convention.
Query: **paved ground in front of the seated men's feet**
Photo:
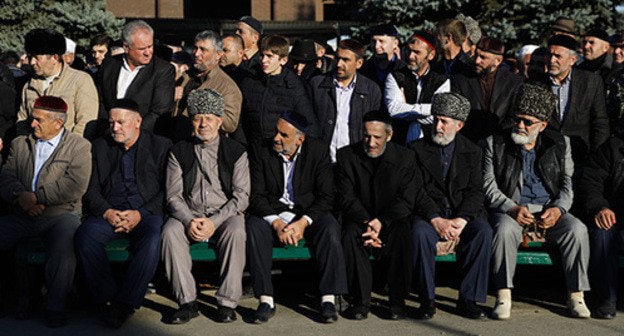
[[[289,266],[287,266],[289,267]],[[204,290],[199,298],[202,315],[185,325],[173,326],[162,322],[176,305],[160,294],[146,296],[144,306],[120,329],[111,332],[89,309],[79,304],[70,307],[69,324],[62,329],[48,329],[43,326],[43,312],[35,311],[26,321],[17,321],[10,314],[0,319],[0,335],[623,335],[624,312],[615,320],[578,320],[566,316],[565,290],[559,271],[551,267],[524,267],[519,269],[514,293],[512,319],[509,321],[472,321],[455,314],[457,290],[452,280],[456,275],[449,266],[441,266],[437,290],[438,314],[430,321],[408,318],[403,321],[389,321],[384,318],[383,297],[376,296],[377,305],[365,321],[350,321],[340,318],[331,325],[317,321],[317,299],[311,294],[314,275],[312,265],[295,266],[297,270],[276,275],[277,315],[265,325],[249,323],[257,301],[243,299],[237,312],[239,320],[231,324],[214,321],[216,302],[214,290]],[[290,267],[289,267],[290,268]],[[210,278],[210,277],[208,277]],[[529,289],[530,287],[534,287]],[[488,297],[484,307],[494,303]],[[408,300],[410,315],[417,307],[416,298]]]

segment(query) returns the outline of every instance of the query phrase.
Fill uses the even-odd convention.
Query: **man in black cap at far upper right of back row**
[[[600,75],[605,85],[609,84],[613,57],[609,55],[609,34],[603,29],[592,29],[583,35],[584,60],[578,69]]]

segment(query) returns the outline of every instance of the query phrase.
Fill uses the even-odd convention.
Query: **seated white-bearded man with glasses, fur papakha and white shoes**
[[[517,251],[529,227],[559,246],[571,316],[590,315],[583,299],[583,291],[589,290],[587,228],[568,212],[574,171],[570,141],[546,129],[556,101],[547,89],[524,85],[514,103],[513,129],[486,140],[483,175],[494,229],[495,319],[510,317]]]

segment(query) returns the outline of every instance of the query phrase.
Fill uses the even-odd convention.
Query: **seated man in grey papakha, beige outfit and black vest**
[[[249,204],[249,167],[242,145],[219,134],[225,115],[223,96],[197,89],[188,96],[193,139],[178,142],[167,164],[167,207],[162,233],[162,259],[180,308],[170,323],[199,316],[189,253],[191,242],[210,240],[219,256],[220,322],[236,320],[234,309],[243,293],[245,217]]]

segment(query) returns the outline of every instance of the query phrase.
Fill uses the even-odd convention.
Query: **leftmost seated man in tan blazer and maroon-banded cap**
[[[0,197],[13,204],[12,214],[0,218],[0,251],[46,237],[46,325],[53,328],[66,323],[65,300],[76,269],[74,233],[91,175],[91,144],[65,129],[67,109],[61,98],[37,98],[32,134],[13,140],[0,173]]]

